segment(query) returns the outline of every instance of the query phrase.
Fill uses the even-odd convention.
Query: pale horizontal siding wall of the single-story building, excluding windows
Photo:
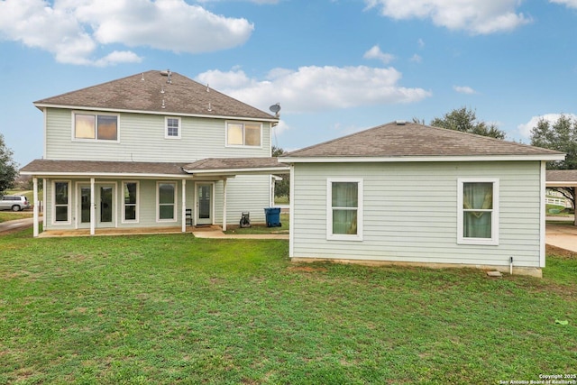
[[[539,267],[540,162],[296,164],[293,257]],[[326,179],[362,178],[362,242],[326,240]],[[499,179],[499,245],[457,244],[457,179]]]

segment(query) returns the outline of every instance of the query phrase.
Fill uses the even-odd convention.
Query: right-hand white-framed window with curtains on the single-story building
[[[457,183],[457,243],[499,244],[499,179]]]

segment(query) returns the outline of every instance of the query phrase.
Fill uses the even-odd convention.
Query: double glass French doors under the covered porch
[[[79,227],[90,227],[90,186],[79,186]],[[114,227],[114,185],[96,184],[96,227]]]

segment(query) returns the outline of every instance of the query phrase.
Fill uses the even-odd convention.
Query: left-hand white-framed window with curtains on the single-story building
[[[327,179],[326,239],[362,241],[362,179]]]

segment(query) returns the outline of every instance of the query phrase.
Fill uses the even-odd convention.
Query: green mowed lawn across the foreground
[[[0,236],[0,383],[499,383],[577,369],[575,255],[553,251],[543,280],[490,279],[291,264],[288,247]]]

